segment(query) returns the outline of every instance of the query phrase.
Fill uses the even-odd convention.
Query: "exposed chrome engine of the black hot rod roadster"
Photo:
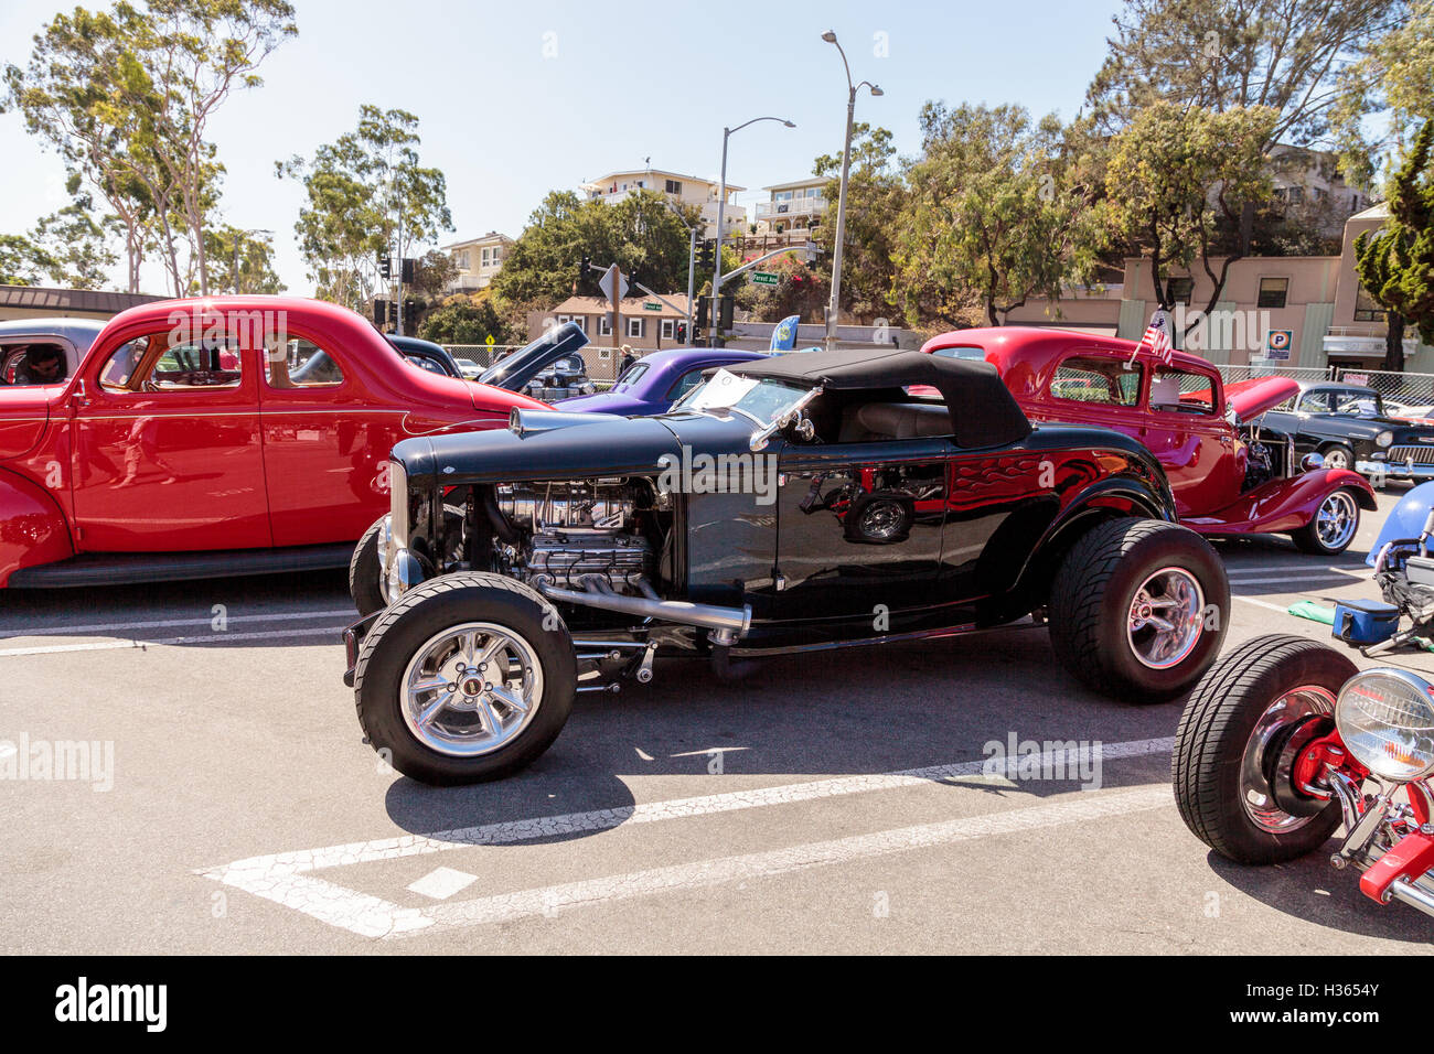
[[[499,486],[496,496],[498,511],[519,535],[508,548],[518,578],[543,578],[565,589],[605,585],[615,592],[652,594],[657,555],[637,529],[637,513],[652,498],[645,480],[511,483]]]

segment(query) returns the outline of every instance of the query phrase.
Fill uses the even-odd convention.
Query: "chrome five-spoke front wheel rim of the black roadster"
[[[542,667],[519,634],[466,622],[430,637],[403,673],[403,721],[440,754],[476,757],[515,740],[538,713]]]

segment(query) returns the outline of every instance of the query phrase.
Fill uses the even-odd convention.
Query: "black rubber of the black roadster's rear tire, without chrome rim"
[[[1156,668],[1137,655],[1130,609],[1141,585],[1166,568],[1193,578],[1205,602],[1187,650]],[[1130,703],[1163,703],[1187,691],[1215,661],[1229,611],[1225,565],[1200,535],[1159,519],[1106,521],[1076,542],[1055,574],[1051,645],[1087,687]]]

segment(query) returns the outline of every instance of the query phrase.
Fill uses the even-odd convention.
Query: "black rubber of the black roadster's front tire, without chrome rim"
[[[522,638],[541,667],[542,691],[512,741],[460,757],[409,728],[403,677],[427,641],[465,622],[490,622]],[[354,667],[354,704],[369,743],[387,751],[394,769],[422,783],[453,786],[495,780],[531,764],[566,724],[576,684],[572,637],[558,609],[522,582],[475,571],[427,581],[377,618]]]

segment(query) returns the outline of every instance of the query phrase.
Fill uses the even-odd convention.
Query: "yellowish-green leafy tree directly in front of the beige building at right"
[[[1170,268],[1199,261],[1213,284],[1205,311],[1215,310],[1243,255],[1238,242],[1222,244],[1222,232],[1238,228],[1246,205],[1269,198],[1263,143],[1278,118],[1263,106],[1217,112],[1157,102],[1111,141],[1104,217],[1116,239],[1150,257],[1160,307],[1174,307]]]

